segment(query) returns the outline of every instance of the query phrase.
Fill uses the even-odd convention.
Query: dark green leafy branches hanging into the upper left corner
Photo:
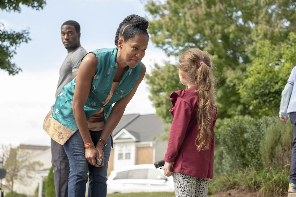
[[[39,10],[43,9],[45,0],[4,0],[0,2],[0,9],[7,12],[21,12],[20,4]],[[21,43],[28,43],[29,30],[6,30],[4,24],[0,22],[0,69],[15,75],[22,69],[12,63],[13,56],[16,54],[17,47]]]

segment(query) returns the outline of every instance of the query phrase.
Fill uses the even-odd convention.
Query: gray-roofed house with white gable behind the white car
[[[164,158],[168,141],[162,141],[164,124],[155,114],[123,115],[113,131],[108,175],[111,170],[137,164],[153,164]]]

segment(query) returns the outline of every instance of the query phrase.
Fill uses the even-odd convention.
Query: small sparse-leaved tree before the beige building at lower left
[[[28,185],[26,180],[32,178],[32,172],[36,172],[43,165],[37,161],[30,161],[31,153],[20,147],[2,145],[0,152],[4,157],[3,168],[6,170],[5,180],[10,188],[10,193],[13,193],[15,181]]]

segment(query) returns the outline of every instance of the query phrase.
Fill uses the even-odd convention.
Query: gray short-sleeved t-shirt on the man
[[[72,73],[78,71],[81,58],[87,52],[81,46],[76,48],[74,51],[68,53],[61,68],[59,69],[59,82],[57,83],[56,98],[59,95],[61,89],[70,81],[72,81]]]

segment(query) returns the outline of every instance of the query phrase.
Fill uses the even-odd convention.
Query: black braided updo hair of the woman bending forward
[[[118,47],[118,39],[120,37],[122,37],[124,41],[127,41],[139,34],[144,34],[149,37],[147,32],[148,25],[149,22],[145,18],[136,14],[129,15],[123,20],[123,22],[120,23],[118,29],[116,30],[114,40],[115,45]]]

